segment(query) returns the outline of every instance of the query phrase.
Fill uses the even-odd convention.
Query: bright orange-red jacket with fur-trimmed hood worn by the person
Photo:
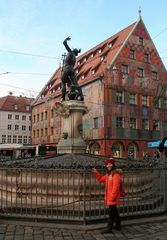
[[[110,174],[103,176],[97,171],[94,173],[99,182],[105,182],[105,203],[106,205],[120,204],[120,183],[122,181],[122,170],[115,169]]]

